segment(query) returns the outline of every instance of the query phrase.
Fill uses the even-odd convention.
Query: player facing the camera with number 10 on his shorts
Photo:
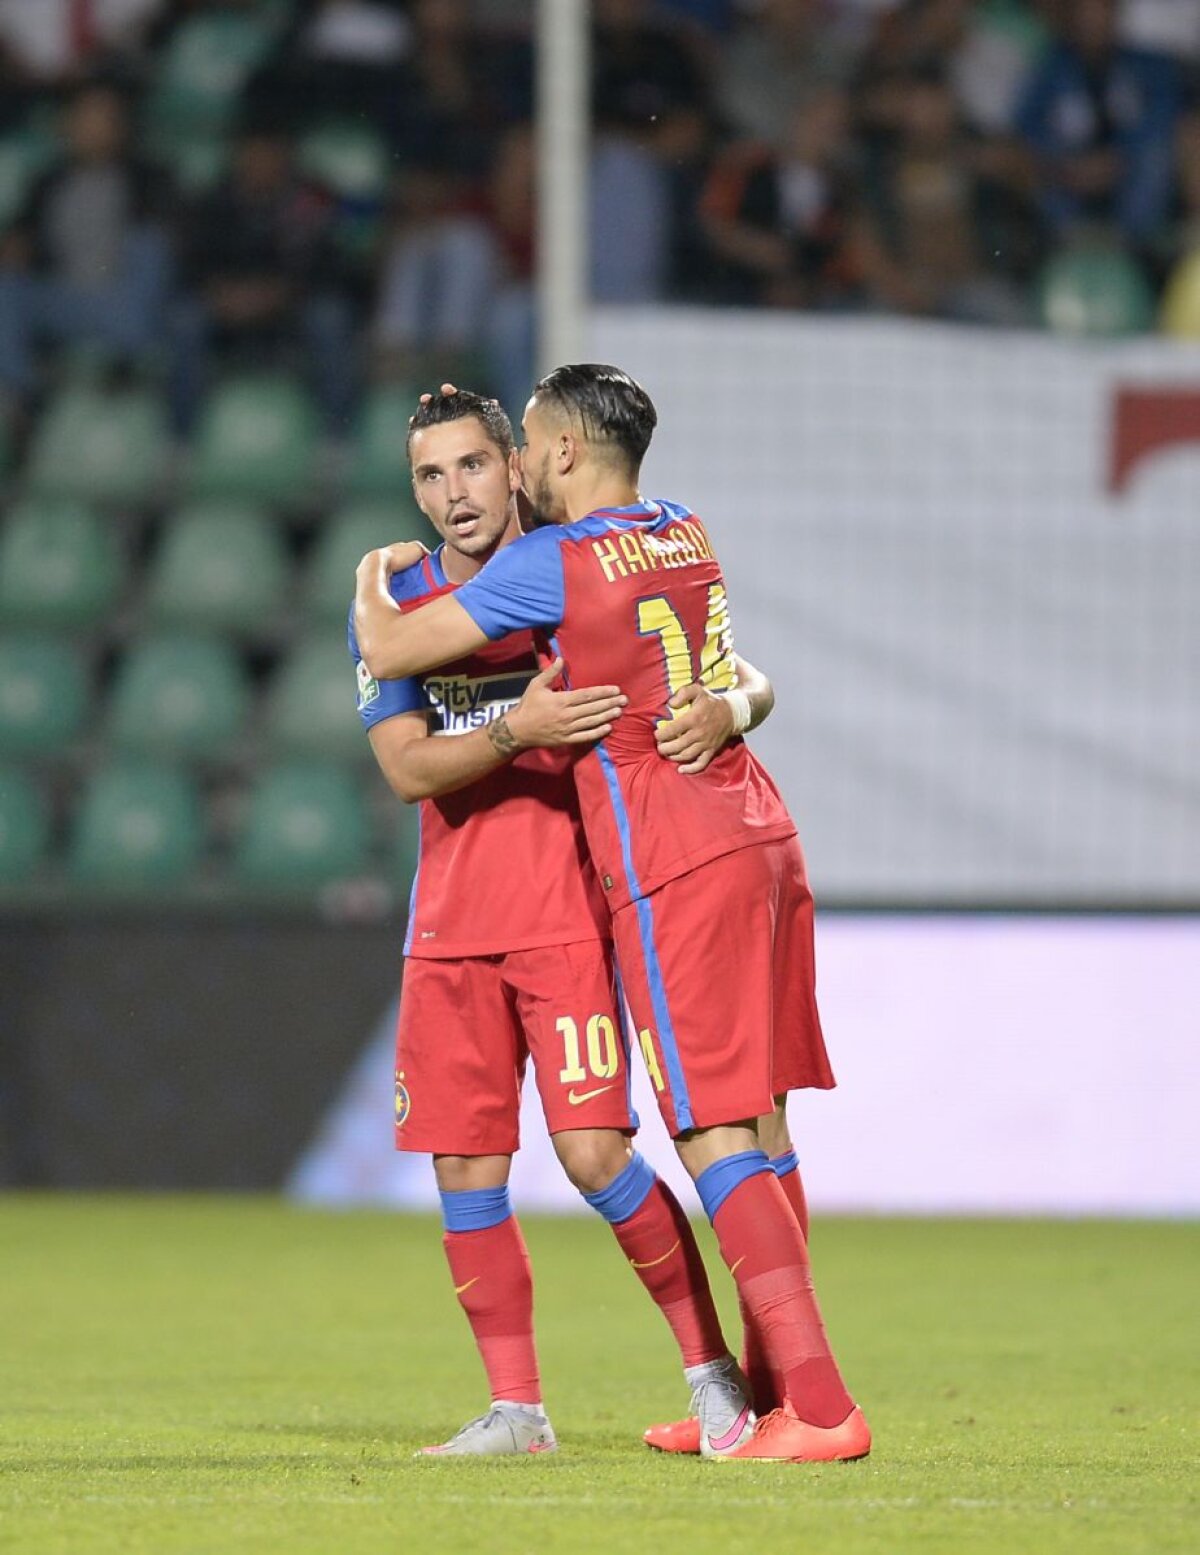
[[[443,546],[392,575],[404,611],[451,596],[519,533],[519,470],[496,401],[438,398],[413,418],[409,448],[413,490]],[[541,1403],[528,1260],[507,1190],[527,1054],[567,1176],[612,1224],[672,1325],[706,1434],[732,1446],[748,1431],[748,1398],[695,1236],[628,1144],[636,1120],[608,911],[570,781],[572,751],[611,732],[623,698],[614,686],[553,690],[556,667],[538,673],[528,633],[407,680],[372,676],[353,625],[350,648],[376,759],[393,790],[421,804],[396,1143],[434,1154],[445,1250],[493,1398],[485,1415],[429,1451],[555,1446]],[[726,740],[726,725],[710,714],[693,704],[684,720],[690,734],[679,754],[692,764]]]

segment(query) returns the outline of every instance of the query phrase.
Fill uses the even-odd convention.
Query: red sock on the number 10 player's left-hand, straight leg
[[[533,1275],[516,1216],[482,1232],[446,1232],[441,1246],[454,1275],[454,1294],[488,1373],[491,1396],[539,1404]]]

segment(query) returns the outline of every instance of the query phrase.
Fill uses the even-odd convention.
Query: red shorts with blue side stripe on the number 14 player
[[[738,1123],[828,1090],[813,896],[794,837],[668,880],[612,917],[617,964],[667,1129]]]

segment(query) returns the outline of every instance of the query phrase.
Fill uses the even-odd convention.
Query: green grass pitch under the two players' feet
[[[561,1449],[413,1462],[485,1403],[432,1219],[0,1197],[0,1550],[1200,1549],[1194,1224],[818,1221],[875,1429],[822,1468],[645,1451],[665,1325],[600,1222],[525,1233]]]

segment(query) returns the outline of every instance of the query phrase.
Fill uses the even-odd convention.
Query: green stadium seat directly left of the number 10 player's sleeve
[[[340,631],[302,644],[270,689],[267,729],[274,745],[300,756],[358,760],[370,756],[354,694],[354,666]]]

